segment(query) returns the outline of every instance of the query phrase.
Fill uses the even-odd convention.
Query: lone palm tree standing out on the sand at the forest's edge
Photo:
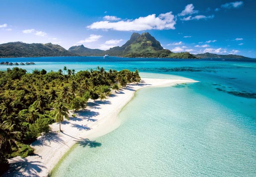
[[[64,104],[61,102],[60,99],[57,99],[55,103],[53,104],[54,107],[54,113],[55,122],[59,122],[60,124],[60,131],[61,131],[61,122],[63,122],[64,117],[68,117],[68,109],[64,106]]]

